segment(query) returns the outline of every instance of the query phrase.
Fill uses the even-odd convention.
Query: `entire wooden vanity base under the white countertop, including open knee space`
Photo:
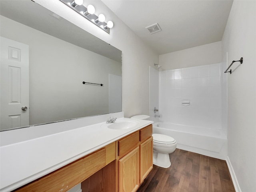
[[[59,168],[16,192],[135,192],[153,168],[152,125]]]

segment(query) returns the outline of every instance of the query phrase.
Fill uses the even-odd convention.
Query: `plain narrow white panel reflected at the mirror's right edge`
[[[122,77],[109,74],[109,113],[122,111]]]

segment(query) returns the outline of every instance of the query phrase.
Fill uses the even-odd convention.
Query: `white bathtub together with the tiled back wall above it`
[[[177,148],[226,160],[221,71],[217,63],[159,72],[159,121],[164,123],[153,133],[173,137]]]

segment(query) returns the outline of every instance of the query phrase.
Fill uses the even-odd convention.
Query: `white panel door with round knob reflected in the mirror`
[[[0,130],[28,126],[28,45],[4,37],[1,37],[0,44]]]

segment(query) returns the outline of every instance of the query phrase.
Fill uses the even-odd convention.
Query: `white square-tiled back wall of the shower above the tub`
[[[160,122],[222,128],[222,64],[159,73]],[[183,106],[182,100],[190,105]]]

